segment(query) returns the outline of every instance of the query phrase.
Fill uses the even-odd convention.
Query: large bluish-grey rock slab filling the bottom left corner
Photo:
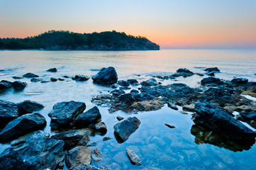
[[[55,169],[65,156],[64,142],[39,137],[30,142],[9,147],[0,155],[0,169]]]

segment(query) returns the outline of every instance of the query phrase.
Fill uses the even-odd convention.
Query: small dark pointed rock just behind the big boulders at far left
[[[17,103],[18,106],[18,115],[24,115],[26,113],[33,113],[35,111],[40,111],[44,106],[35,101],[23,101],[21,103]]]

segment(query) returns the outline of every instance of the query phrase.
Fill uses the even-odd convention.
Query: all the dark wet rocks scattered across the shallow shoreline
[[[57,72],[57,69],[48,69],[48,72]],[[105,135],[107,132],[97,106],[109,107],[109,113],[156,111],[166,104],[174,110],[178,109],[177,106],[182,106],[183,111],[194,113],[191,119],[195,125],[191,127],[191,134],[196,137],[196,143],[209,143],[233,151],[250,149],[255,144],[256,133],[240,121],[256,128],[256,101],[243,96],[256,96],[256,82],[248,82],[243,78],[231,81],[218,79],[214,77],[218,72],[221,71],[217,67],[205,69],[208,77],[201,79],[201,86],[191,88],[186,84],[164,86],[161,82],[204,74],[178,69],[175,74],[165,77],[155,75],[139,82],[136,79],[118,80],[113,67],[103,68],[91,79],[100,86],[111,86],[113,91],[91,98],[96,106],[87,111],[86,103],[80,101],[55,103],[48,114],[51,119],[50,127],[57,132],[52,136],[41,131],[45,128],[46,121],[37,112],[43,105],[35,101],[0,101],[0,142],[11,142],[11,147],[0,154],[0,169],[63,169],[64,166],[68,169],[108,169],[106,166],[90,166],[91,159],[94,162],[101,159],[101,152],[92,150],[88,145],[90,136]],[[24,74],[23,77],[31,78],[31,82],[43,81],[32,73]],[[90,78],[77,75],[73,79],[87,81]],[[2,80],[0,90],[13,88],[22,91],[27,86],[21,81],[14,82]],[[22,85],[17,88],[16,84]],[[129,90],[130,92],[126,92]],[[239,114],[234,115],[234,112]],[[139,128],[140,120],[136,117],[118,119],[121,120],[120,123],[108,128],[114,128],[116,140],[121,143]],[[143,164],[132,149],[126,148],[126,153],[132,164]]]

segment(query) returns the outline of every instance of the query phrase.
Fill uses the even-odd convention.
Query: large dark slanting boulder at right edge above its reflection
[[[232,141],[255,142],[255,132],[233,118],[228,111],[210,103],[196,103],[194,110],[193,121],[196,125],[210,128]]]

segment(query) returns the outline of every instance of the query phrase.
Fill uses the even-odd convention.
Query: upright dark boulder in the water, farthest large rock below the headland
[[[92,77],[92,79],[96,84],[110,85],[115,84],[118,80],[118,77],[116,74],[116,69],[113,67],[108,67],[101,69],[101,71]]]

